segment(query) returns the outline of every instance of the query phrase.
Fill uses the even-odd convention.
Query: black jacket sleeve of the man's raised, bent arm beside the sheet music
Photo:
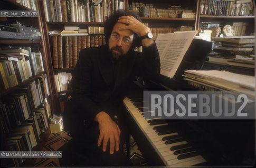
[[[134,74],[144,79],[157,79],[159,77],[160,58],[155,43],[148,47],[143,46],[143,52],[137,53]]]

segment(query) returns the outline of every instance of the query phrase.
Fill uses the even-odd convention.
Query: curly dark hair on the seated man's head
[[[113,27],[115,26],[115,24],[117,23],[117,20],[119,17],[121,16],[133,16],[134,18],[136,18],[137,20],[139,20],[139,22],[142,23],[139,15],[133,11],[130,10],[119,10],[118,12],[115,12],[112,16],[110,16],[105,24],[104,24],[104,34],[106,37],[106,43],[109,43],[109,38],[110,35],[112,33]],[[140,40],[139,40],[139,36],[137,34],[134,34],[134,40],[132,41],[131,44],[131,49],[134,49],[135,47],[138,47],[140,45]]]

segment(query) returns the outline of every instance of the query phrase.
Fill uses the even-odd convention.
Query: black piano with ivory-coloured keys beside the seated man
[[[198,43],[193,45],[188,50],[198,55]],[[207,46],[202,48],[207,50]],[[187,85],[181,74],[189,65],[200,69],[205,59],[196,60],[189,52],[184,59],[173,79],[161,75],[157,81],[134,82],[123,100],[130,134],[147,166],[253,166],[254,120],[145,120],[144,114],[150,112],[150,107],[143,107],[144,90],[198,90]]]

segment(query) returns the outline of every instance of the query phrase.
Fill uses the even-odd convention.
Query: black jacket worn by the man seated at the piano
[[[160,72],[157,47],[143,47],[143,53],[129,51],[121,60],[111,58],[108,45],[80,51],[72,73],[72,97],[64,111],[64,129],[72,135],[93,133],[94,118],[100,111],[111,118],[120,116],[120,104],[135,76],[156,78]],[[97,135],[96,135],[97,138]]]

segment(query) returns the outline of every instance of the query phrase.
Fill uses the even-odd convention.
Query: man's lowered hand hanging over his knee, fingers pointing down
[[[98,146],[101,145],[103,140],[102,151],[106,151],[108,141],[110,140],[110,154],[113,154],[115,149],[118,151],[121,133],[118,125],[104,111],[99,112],[94,120],[99,123],[100,129]]]

